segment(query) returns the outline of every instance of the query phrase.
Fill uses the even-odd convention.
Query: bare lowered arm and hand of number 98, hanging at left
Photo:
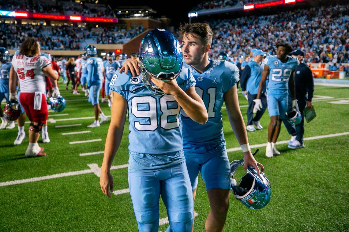
[[[114,191],[113,177],[110,174],[110,167],[114,156],[120,146],[122,133],[124,132],[127,112],[127,101],[119,94],[114,94],[114,100],[111,107],[111,119],[105,140],[104,157],[101,166],[101,178],[99,185],[102,192],[111,197],[110,190]]]

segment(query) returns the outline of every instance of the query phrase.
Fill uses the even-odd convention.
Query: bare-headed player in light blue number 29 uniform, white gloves
[[[257,98],[255,102],[254,112],[262,108],[261,94],[268,77],[267,86],[267,102],[270,116],[270,124],[268,127],[268,143],[266,147],[266,156],[271,158],[273,155],[280,155],[276,149],[275,143],[280,134],[280,125],[288,105],[288,89],[292,95],[292,107],[297,105],[295,94],[294,71],[299,64],[297,57],[289,56],[292,51],[288,43],[276,43],[276,55],[267,56],[262,72],[262,79],[259,83]]]

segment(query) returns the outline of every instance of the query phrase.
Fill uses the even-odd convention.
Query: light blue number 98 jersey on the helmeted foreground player
[[[186,68],[176,80],[184,91],[195,86]],[[131,73],[116,71],[109,86],[128,104],[129,171],[168,168],[184,162],[180,106],[174,97],[151,94],[141,77],[131,77]]]

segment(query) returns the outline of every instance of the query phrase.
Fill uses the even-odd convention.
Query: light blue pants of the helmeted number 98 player
[[[136,220],[159,220],[159,199],[164,202],[170,222],[194,218],[193,192],[185,163],[159,171],[128,173],[128,185]]]

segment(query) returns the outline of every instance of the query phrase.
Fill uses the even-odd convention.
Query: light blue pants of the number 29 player
[[[288,95],[267,95],[269,117],[279,116],[285,118],[288,105]]]

